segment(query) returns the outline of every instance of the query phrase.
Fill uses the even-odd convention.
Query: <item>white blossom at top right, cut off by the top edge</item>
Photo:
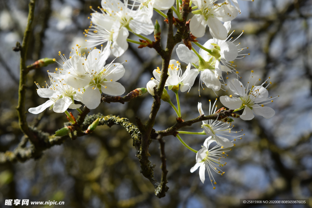
[[[227,38],[226,27],[221,23],[233,20],[237,14],[237,9],[231,5],[229,0],[223,3],[215,3],[217,0],[194,0],[193,3],[198,10],[193,11],[195,15],[190,21],[190,31],[196,37],[205,34],[206,25],[212,37],[225,40]]]

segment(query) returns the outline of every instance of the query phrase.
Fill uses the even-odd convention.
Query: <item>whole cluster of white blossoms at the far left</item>
[[[56,113],[63,113],[68,108],[78,109],[81,105],[74,104],[74,100],[85,104],[89,109],[95,109],[101,102],[101,94],[121,95],[124,86],[116,82],[124,75],[124,66],[120,63],[105,62],[110,51],[94,48],[88,55],[81,54],[80,46],[69,54],[69,59],[59,52],[62,59],[61,68],[56,68],[54,73],[48,72],[50,86],[38,88],[37,93],[42,98],[49,98],[45,104],[29,109],[32,114],[41,113],[50,107]],[[55,60],[56,61],[56,60]],[[79,110],[78,110],[79,111]]]

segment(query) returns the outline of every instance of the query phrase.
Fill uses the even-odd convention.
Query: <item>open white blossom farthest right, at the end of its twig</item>
[[[251,72],[253,73],[253,71]],[[251,77],[252,76],[250,75],[250,78]],[[255,84],[252,85],[251,88],[249,88],[250,78],[246,88],[239,80],[232,79],[230,81],[230,89],[234,94],[239,95],[240,97],[236,98],[232,97],[232,95],[221,96],[220,101],[224,106],[229,109],[235,109],[235,111],[244,109],[244,112],[240,116],[240,118],[243,120],[253,119],[255,117],[253,113],[269,119],[275,115],[275,111],[272,108],[264,106],[265,104],[273,102],[273,100],[271,100],[273,99],[272,97],[268,98],[269,93],[266,89],[271,84],[271,82],[266,87],[263,87],[263,85],[267,83],[268,79],[259,86],[255,86],[255,82]],[[260,80],[261,79],[259,79],[259,81]],[[271,101],[266,102],[268,100]]]

